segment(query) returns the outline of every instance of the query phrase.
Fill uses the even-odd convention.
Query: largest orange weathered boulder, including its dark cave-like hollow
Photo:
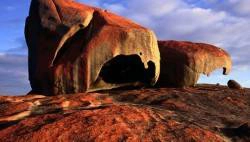
[[[154,33],[106,10],[72,0],[32,0],[25,35],[33,92],[154,85],[159,76]]]

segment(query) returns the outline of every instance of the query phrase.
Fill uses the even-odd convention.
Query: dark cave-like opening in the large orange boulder
[[[150,83],[155,75],[155,64],[148,62],[145,69],[138,55],[119,55],[111,59],[101,69],[100,77],[107,83]]]

